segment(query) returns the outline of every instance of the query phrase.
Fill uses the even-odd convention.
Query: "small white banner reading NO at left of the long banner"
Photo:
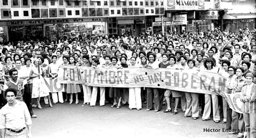
[[[42,89],[44,91],[47,91],[47,92],[63,92],[64,91],[64,85],[60,84],[58,82],[57,78],[53,78],[53,79],[52,78],[41,78],[39,80],[42,81],[42,83],[39,83],[40,89]],[[38,81],[38,80],[36,80],[36,81]],[[38,83],[33,82],[33,84],[38,84]],[[33,85],[33,87],[34,86],[35,85]]]

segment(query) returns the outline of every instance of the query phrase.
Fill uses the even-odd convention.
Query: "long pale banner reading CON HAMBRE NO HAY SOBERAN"
[[[102,87],[161,88],[209,95],[215,95],[225,88],[225,79],[217,73],[166,68],[94,69],[60,66],[58,81],[64,84],[75,83]]]

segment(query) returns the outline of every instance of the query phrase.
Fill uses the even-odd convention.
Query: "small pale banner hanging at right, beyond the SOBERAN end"
[[[226,98],[228,106],[230,106],[230,108],[233,111],[235,111],[237,113],[242,113],[242,101],[240,99],[240,97],[241,97],[240,92],[232,93],[232,94],[224,93],[224,96]]]

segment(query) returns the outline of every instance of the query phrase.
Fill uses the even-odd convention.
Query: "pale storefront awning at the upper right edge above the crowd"
[[[256,18],[255,13],[225,13],[223,19],[251,19]]]

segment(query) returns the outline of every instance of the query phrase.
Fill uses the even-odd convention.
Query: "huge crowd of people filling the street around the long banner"
[[[141,110],[144,103],[146,111],[159,112],[165,108],[165,113],[184,112],[185,117],[194,120],[200,114],[203,121],[210,120],[212,115],[215,123],[222,121],[226,124],[230,134],[255,137],[254,37],[254,30],[245,28],[235,32],[215,29],[164,35],[151,32],[137,36],[100,35],[95,38],[79,35],[77,38],[64,36],[59,41],[38,39],[0,43],[1,90],[16,88],[16,100],[25,101],[32,118],[36,118],[32,107],[42,109],[43,102],[53,107],[57,103],[78,104],[79,100],[83,100],[83,106],[96,106],[99,99],[99,106],[111,103],[111,107],[120,108],[129,104],[129,110]],[[216,72],[227,78],[225,93],[241,93],[243,113],[232,111],[221,94],[206,95],[158,88],[105,88],[84,84],[64,84],[64,92],[49,93],[43,90],[40,87],[43,78],[58,77],[60,65]],[[2,104],[5,104],[5,97],[2,92]],[[172,99],[174,105],[171,105]],[[181,110],[178,110],[179,107]],[[249,128],[250,131],[246,130]]]

